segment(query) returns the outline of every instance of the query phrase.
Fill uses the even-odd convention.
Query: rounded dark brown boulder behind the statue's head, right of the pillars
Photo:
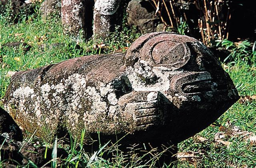
[[[127,6],[127,23],[138,27],[141,33],[150,33],[159,29],[161,20],[149,1],[132,0]]]

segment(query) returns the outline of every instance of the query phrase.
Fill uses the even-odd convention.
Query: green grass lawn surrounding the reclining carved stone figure
[[[132,41],[140,36],[140,34],[135,33],[135,29],[128,29],[124,22],[123,30],[116,29],[106,41],[93,41],[92,39],[73,41],[72,37],[62,33],[59,18],[44,21],[38,15],[28,16],[17,24],[11,24],[0,16],[0,56],[2,57],[0,98],[3,98],[5,94],[10,82],[11,72],[38,68],[85,55],[124,52]],[[26,45],[20,44],[16,47],[4,45],[17,41],[23,42],[23,44],[26,43]],[[29,47],[31,48],[28,49]],[[230,74],[241,96],[256,95],[256,62],[254,57],[250,57],[252,51],[248,47],[244,49],[247,53],[234,46],[233,49],[237,51],[232,55],[235,62],[233,60],[232,63],[223,63],[222,65]],[[0,103],[0,106],[2,107],[3,105]],[[240,131],[256,133],[255,116],[256,100],[247,99],[244,102],[237,102],[211,126],[178,145],[179,152],[186,153],[184,157],[180,157],[177,166],[209,168],[256,167],[255,143],[251,143],[246,137],[228,135],[228,133],[222,140],[226,143],[231,142],[229,145],[217,143],[214,139],[216,133],[225,134],[225,131],[222,131],[221,128],[226,127],[225,124],[227,122],[240,127]],[[83,132],[81,135],[83,135]],[[29,136],[30,134],[26,135],[27,140],[30,139]],[[197,136],[204,138],[204,141],[198,140]],[[32,141],[36,143],[38,139],[33,137]],[[126,162],[128,156],[119,152],[116,144],[110,145],[108,148],[104,148],[104,145],[102,145],[94,154],[84,151],[82,140],[71,138],[70,145],[64,145],[61,142],[61,140],[58,140],[58,143],[53,146],[47,142],[40,142],[39,146],[63,147],[68,152],[68,157],[62,160],[62,167],[80,167],[88,164],[92,167],[141,166],[136,162],[136,159]],[[102,158],[109,151],[116,152],[116,157],[112,160]],[[188,156],[188,154],[193,154],[193,157],[190,157],[191,155]],[[53,153],[52,156],[56,158],[56,153]],[[94,158],[94,161],[90,161],[90,158]],[[97,161],[95,161],[95,158]],[[153,165],[154,161],[152,160],[149,164]],[[54,160],[52,166],[56,166]]]

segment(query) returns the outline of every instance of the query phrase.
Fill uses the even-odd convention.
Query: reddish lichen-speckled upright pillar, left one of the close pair
[[[80,36],[86,37],[85,25],[85,0],[62,0],[61,18],[64,33],[73,35],[76,39]]]

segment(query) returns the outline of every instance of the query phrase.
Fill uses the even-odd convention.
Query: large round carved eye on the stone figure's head
[[[154,46],[152,59],[155,64],[174,70],[188,63],[190,51],[183,43],[175,44],[173,41],[162,41]]]

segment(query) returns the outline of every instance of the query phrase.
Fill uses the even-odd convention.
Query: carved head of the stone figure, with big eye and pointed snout
[[[178,131],[200,131],[239,98],[219,61],[191,37],[166,32],[144,35],[129,48],[125,63],[135,91],[162,94],[160,102],[165,104],[159,122]]]

